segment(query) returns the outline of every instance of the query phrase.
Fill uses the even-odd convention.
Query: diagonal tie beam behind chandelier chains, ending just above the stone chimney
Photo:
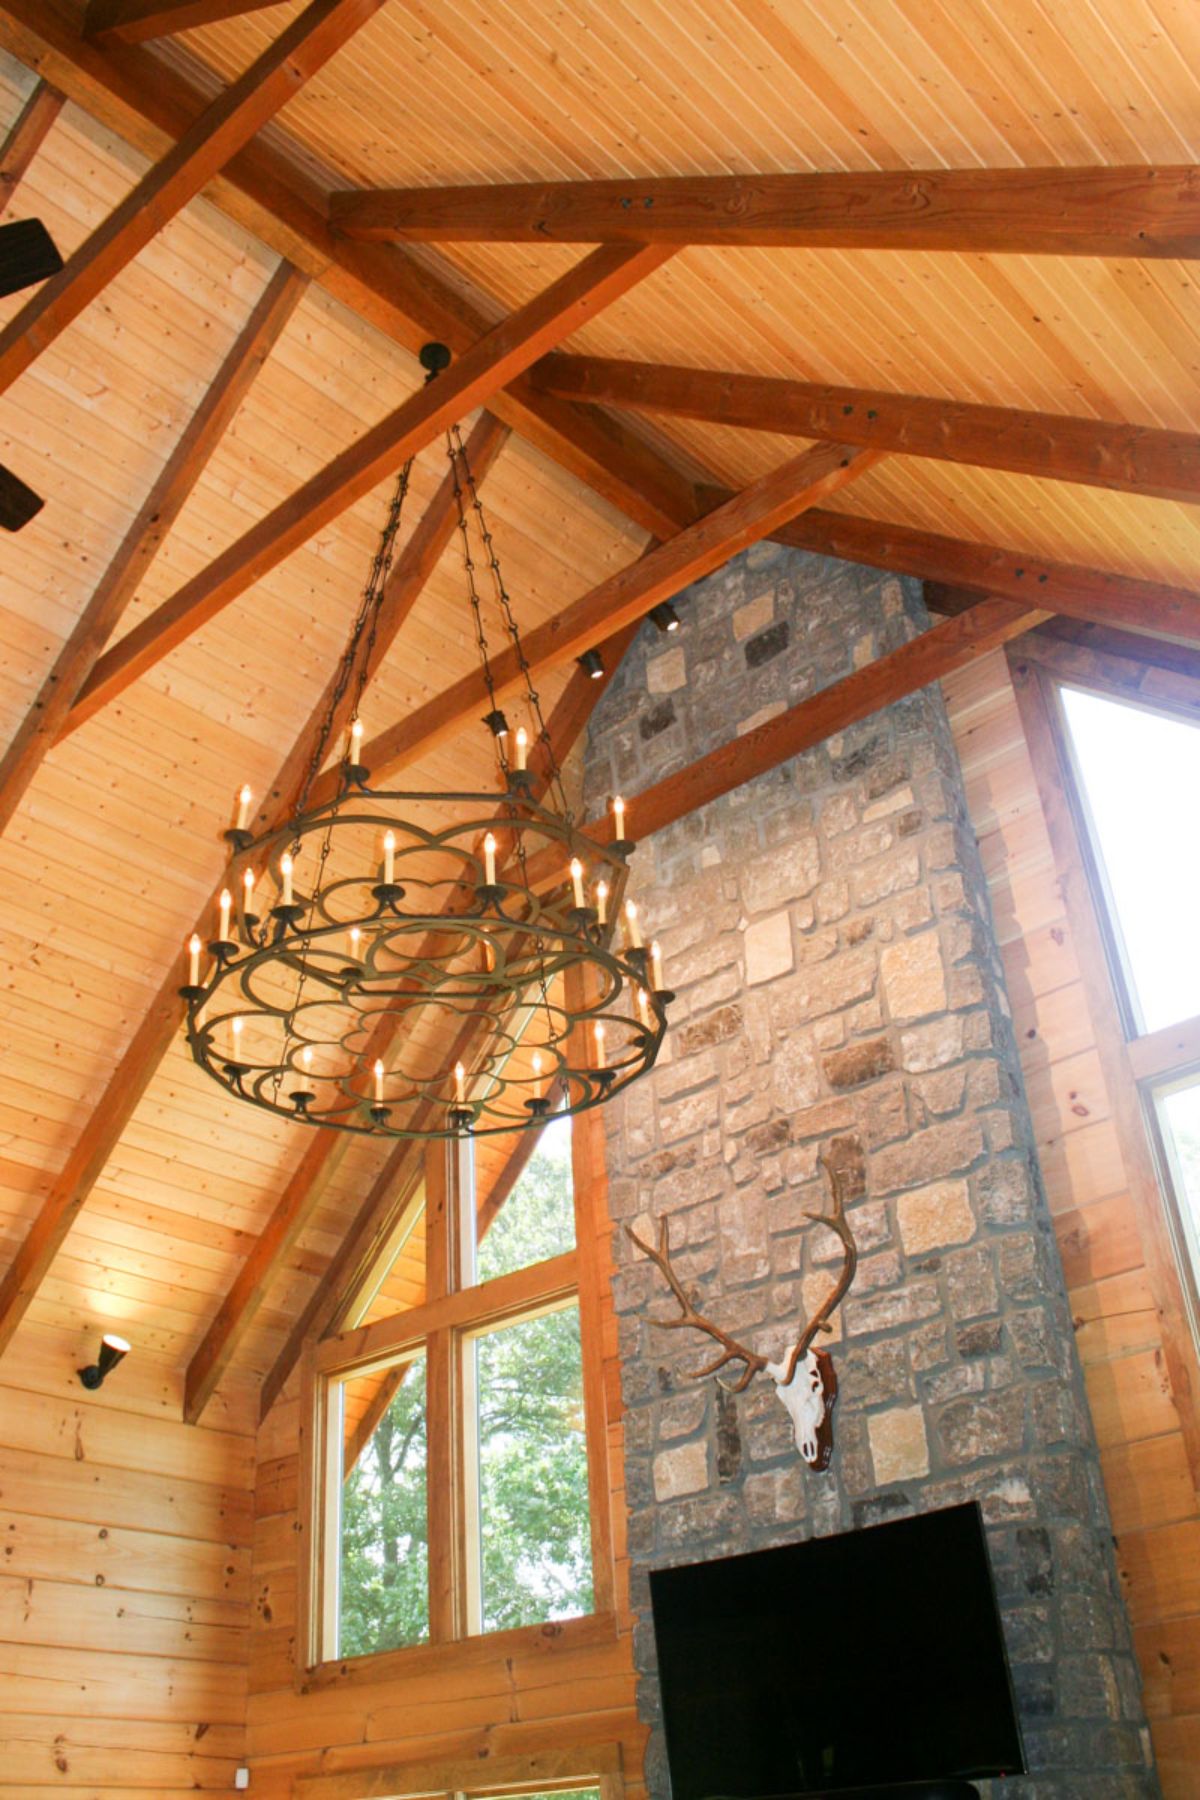
[[[536,673],[583,655],[613,630],[642,619],[660,599],[669,599],[689,581],[720,569],[747,544],[770,536],[806,506],[837,493],[878,459],[874,450],[847,450],[840,445],[819,445],[790,457],[694,526],[538,625],[524,639],[525,661]],[[491,673],[497,693],[513,688],[522,679],[516,652],[497,655]],[[363,745],[363,761],[380,776],[392,774],[461,731],[486,698],[482,675],[464,675],[399,725]]]

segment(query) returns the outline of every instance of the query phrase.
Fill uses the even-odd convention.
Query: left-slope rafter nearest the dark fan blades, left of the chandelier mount
[[[0,760],[0,832],[13,819],[95,659],[137,594],[209,457],[279,342],[306,286],[308,275],[281,263],[187,421],[117,554],[97,581],[76,628],[54,659],[38,698]]]

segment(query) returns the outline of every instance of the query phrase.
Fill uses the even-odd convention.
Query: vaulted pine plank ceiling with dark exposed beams
[[[193,29],[164,34],[180,23]],[[237,88],[272,65],[281,34],[311,43],[313,23],[324,59],[302,85],[293,59],[277,90]],[[205,103],[227,133],[219,153],[218,113],[187,139]],[[457,401],[482,400],[511,428],[480,427],[495,455],[484,495],[531,630],[585,596],[576,621],[622,601],[628,617],[644,612],[630,596],[653,590],[653,558],[610,578],[648,533],[669,538],[759,484],[703,542],[729,553],[754,515],[754,529],[999,596],[847,706],[1040,608],[1200,637],[1200,315],[1195,263],[1160,254],[1200,245],[1200,18],[1166,0],[329,0],[317,13],[299,0],[0,0],[0,133],[18,122],[0,158],[4,218],[45,220],[68,257],[115,223],[104,256],[86,252],[83,286],[76,266],[61,299],[49,284],[32,302],[0,301],[0,459],[47,500],[0,542],[0,729],[16,743],[0,783],[13,1258],[0,1337],[22,1318],[25,1334],[81,1339],[112,1321],[180,1404],[187,1382],[193,1411],[214,1388],[216,1408],[252,1409],[264,1379],[275,1391],[297,1321],[318,1318],[331,1258],[362,1253],[347,1233],[387,1152],[354,1143],[326,1159],[309,1134],[225,1103],[175,1031],[173,985],[221,875],[234,790],[248,781],[270,803],[322,698],[398,446],[428,445],[407,542],[435,504],[441,450],[414,349],[444,337],[462,358]],[[171,160],[180,139],[191,157]],[[1126,205],[1097,198],[1105,166],[1164,173],[1128,178]],[[1051,184],[1067,203],[1013,200],[1004,171],[1022,167],[1076,171]],[[703,247],[560,241],[561,193],[533,212],[529,194],[509,196],[502,229],[520,241],[430,241],[452,211],[435,193],[425,241],[401,247],[417,227],[399,200],[372,202],[383,239],[349,236],[365,229],[354,189],[621,178],[662,218],[671,196],[637,184],[914,169],[999,171],[984,185],[1000,194],[1009,236],[991,241],[1004,248],[979,248],[995,202],[954,189],[941,209],[954,248],[819,247],[811,196],[786,243],[727,247],[730,214],[703,187],[691,196],[714,220]],[[169,198],[158,230],[130,203],[142,182]],[[833,216],[846,193],[833,189]],[[907,230],[939,214],[936,182],[891,193]],[[855,194],[858,212],[887,211],[878,184]],[[462,229],[484,230],[470,196],[464,209]],[[738,216],[754,238],[754,209]],[[1052,250],[1036,234],[1047,216]],[[689,383],[630,362],[790,387]],[[880,391],[961,405],[883,405]],[[210,418],[196,416],[205,396]],[[1006,416],[972,410],[984,407]],[[811,437],[837,441],[846,409],[847,443],[867,454],[819,448],[801,473],[772,475]],[[770,506],[813,473],[829,491],[783,524],[788,504],[777,518]],[[399,605],[367,724],[416,754],[414,785],[448,787],[482,779],[488,747],[466,727],[426,749],[421,707],[473,666],[455,549],[426,533],[410,549],[423,585]],[[691,567],[703,542],[667,562]],[[162,635],[162,617],[148,621],[176,596],[180,623]],[[110,630],[90,702],[50,747],[54,707],[68,711],[65,689]],[[567,637],[569,655],[585,641],[549,634],[540,677],[565,740],[594,698],[561,661]],[[31,720],[56,670],[50,711]],[[829,716],[747,754],[788,754]]]

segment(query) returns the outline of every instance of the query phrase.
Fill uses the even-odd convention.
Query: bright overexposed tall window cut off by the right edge
[[[1060,686],[1092,889],[1169,1201],[1193,1332],[1200,1274],[1200,725]]]

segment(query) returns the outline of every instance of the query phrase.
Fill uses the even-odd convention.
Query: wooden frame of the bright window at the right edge
[[[1200,1487],[1200,1418],[1186,1404],[1200,1393],[1200,1267],[1153,1102],[1153,1091],[1175,1076],[1200,1073],[1200,1017],[1157,1031],[1139,1028],[1061,702],[1061,689],[1076,688],[1200,725],[1200,655],[1169,641],[1083,632],[1070,621],[1056,621],[1007,646],[1006,657],[1155,1294],[1168,1375],[1180,1397],[1180,1431]]]

